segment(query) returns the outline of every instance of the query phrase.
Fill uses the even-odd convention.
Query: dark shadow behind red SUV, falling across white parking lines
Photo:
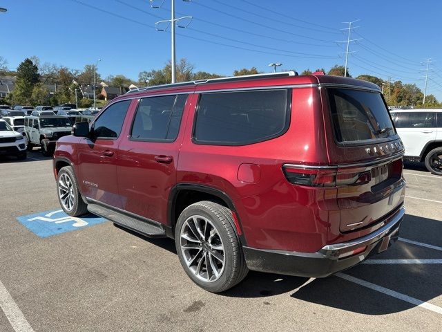
[[[442,221],[407,214],[399,237],[441,247],[441,234]],[[442,259],[442,251],[397,241],[389,250],[372,257],[372,261],[376,259],[439,260]],[[359,264],[343,271],[343,274],[369,282],[374,287],[394,291],[399,297],[405,295],[405,298],[412,297],[418,302],[441,306],[442,264]],[[416,306],[337,276],[315,279],[291,297],[366,315],[385,315]]]

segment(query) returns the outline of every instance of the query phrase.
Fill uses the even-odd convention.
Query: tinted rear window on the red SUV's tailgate
[[[327,91],[338,142],[373,140],[396,134],[381,93],[336,88]]]

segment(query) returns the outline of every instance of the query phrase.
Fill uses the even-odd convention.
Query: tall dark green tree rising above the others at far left
[[[32,91],[39,82],[39,77],[37,66],[26,58],[17,68],[17,82],[14,91],[8,95],[8,100],[12,104],[30,104]]]

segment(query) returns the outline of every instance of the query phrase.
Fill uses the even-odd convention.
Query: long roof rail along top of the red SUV
[[[128,92],[126,92],[126,95],[128,93],[137,93],[137,92],[142,92],[142,91],[164,89],[164,88],[169,88],[169,87],[173,87],[173,86],[186,86],[186,85],[194,85],[194,84],[242,81],[242,80],[253,80],[255,78],[272,78],[272,77],[287,77],[287,76],[298,76],[298,73],[296,73],[296,71],[282,71],[280,73],[263,73],[263,74],[242,75],[242,76],[218,77],[218,78],[210,78],[208,80],[198,80],[198,81],[180,82],[180,83],[173,83],[173,84],[146,86],[145,88],[138,88],[138,89],[129,90]]]

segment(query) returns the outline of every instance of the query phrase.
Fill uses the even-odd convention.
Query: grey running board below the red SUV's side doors
[[[88,210],[90,213],[97,214],[103,218],[109,219],[117,225],[120,225],[134,232],[146,235],[146,237],[166,237],[166,233],[161,225],[154,225],[153,222],[142,221],[140,219],[134,218],[133,216],[128,216],[126,214],[105,208],[102,205],[89,203]]]

